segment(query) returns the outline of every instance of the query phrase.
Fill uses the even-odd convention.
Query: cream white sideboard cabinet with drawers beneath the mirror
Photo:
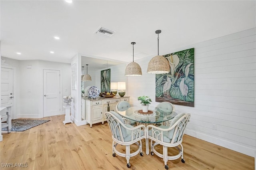
[[[85,99],[86,101],[86,122],[90,124],[90,127],[92,127],[92,124],[94,123],[100,123],[104,124],[104,121],[106,121],[105,112],[108,111],[108,105],[109,105],[109,111],[115,111],[116,112],[116,105],[119,101],[130,101],[130,97],[112,97],[112,98],[104,98],[100,97],[97,99]],[[82,107],[83,108],[83,107]],[[82,113],[83,109],[82,109]]]

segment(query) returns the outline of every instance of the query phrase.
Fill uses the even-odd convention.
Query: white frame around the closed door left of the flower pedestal
[[[56,71],[60,71],[60,111],[59,111],[59,115],[64,115],[65,114],[65,111],[62,107],[62,89],[63,89],[63,83],[62,83],[62,69],[58,69],[58,68],[49,68],[49,67],[43,67],[40,71],[40,75],[42,75],[42,79],[41,79],[41,82],[40,82],[40,89],[42,89],[41,91],[41,101],[40,103],[42,103],[42,105],[39,105],[39,118],[43,118],[44,117],[44,70],[56,70]],[[41,111],[41,112],[40,112]]]

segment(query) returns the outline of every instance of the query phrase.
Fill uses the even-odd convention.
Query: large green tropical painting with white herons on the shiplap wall
[[[156,101],[194,107],[194,48],[164,55],[167,74],[156,74]]]

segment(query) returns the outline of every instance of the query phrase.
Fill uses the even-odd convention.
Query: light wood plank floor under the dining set
[[[24,132],[3,131],[0,142],[0,169],[35,170],[122,170],[126,159],[112,156],[112,138],[108,124],[77,127],[63,125],[64,115],[47,117],[49,122]],[[130,159],[132,170],[164,170],[162,158],[146,155]],[[168,161],[170,170],[254,170],[254,158],[238,152],[184,135],[184,159]],[[136,146],[134,146],[136,148]],[[124,147],[120,147],[124,150]],[[131,150],[133,147],[131,147]],[[168,150],[176,152],[176,150]],[[27,163],[26,168],[5,168],[2,163]]]

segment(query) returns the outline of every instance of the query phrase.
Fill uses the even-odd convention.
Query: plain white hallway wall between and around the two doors
[[[14,119],[43,117],[43,69],[60,70],[60,108],[62,96],[70,95],[70,64],[42,60],[15,60],[2,57],[6,65],[14,68]],[[3,64],[3,63],[2,63]],[[32,68],[28,69],[27,66]],[[4,66],[2,66],[4,67]],[[30,90],[30,92],[28,92]]]

